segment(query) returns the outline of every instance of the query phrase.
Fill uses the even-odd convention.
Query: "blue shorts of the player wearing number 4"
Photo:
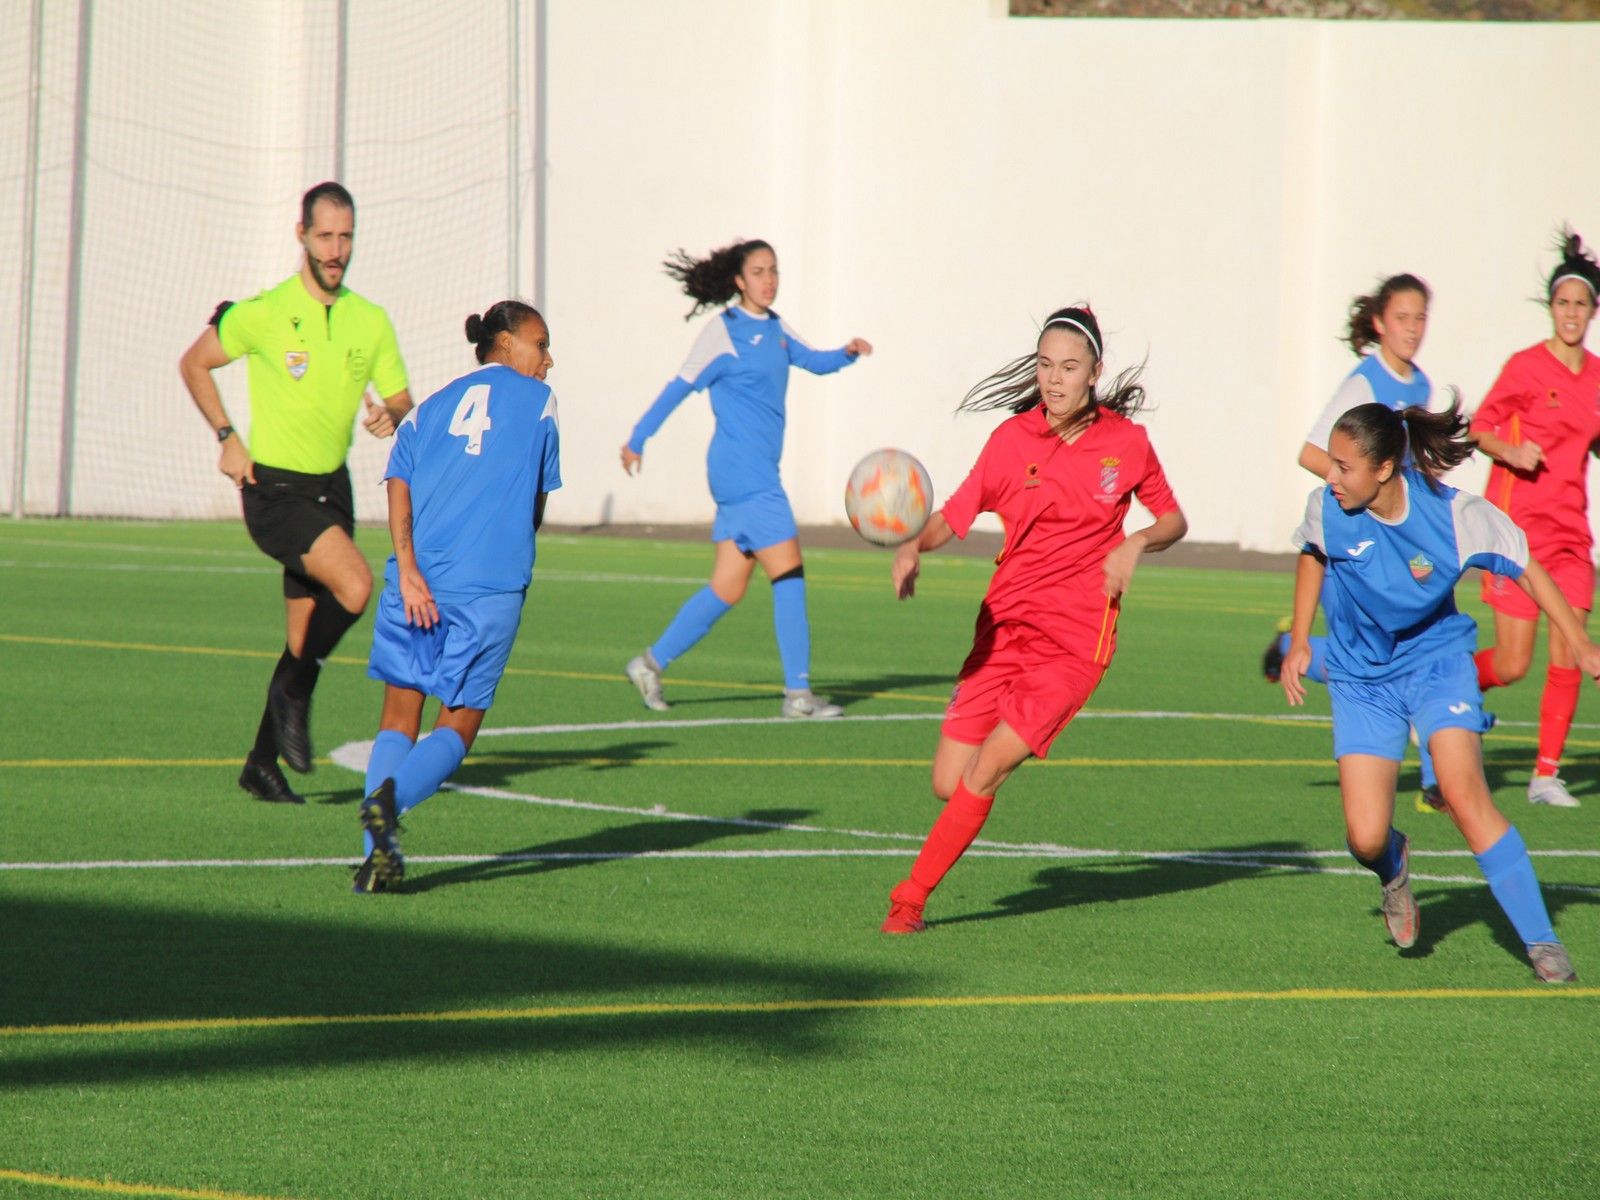
[[[438,624],[406,624],[400,587],[389,584],[373,621],[371,678],[438,696],[445,707],[488,709],[506,674],[522,592],[494,592],[462,603],[438,602]]]

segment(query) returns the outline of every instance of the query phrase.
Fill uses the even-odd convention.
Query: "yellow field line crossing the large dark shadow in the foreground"
[[[736,1016],[752,1013],[840,1013],[904,1008],[1043,1008],[1069,1005],[1221,1005],[1328,1000],[1547,1000],[1600,998],[1600,987],[1291,987],[1282,992],[1062,992],[1054,995],[886,995],[830,1000],[744,1000],[630,1005],[546,1005],[538,1008],[459,1008],[440,1013],[323,1013],[306,1016],[222,1016],[171,1021],[102,1021],[78,1026],[0,1026],[0,1037],[104,1037],[117,1034],[195,1034],[240,1029],[330,1026],[459,1024],[469,1021],[562,1021],[589,1016]]]

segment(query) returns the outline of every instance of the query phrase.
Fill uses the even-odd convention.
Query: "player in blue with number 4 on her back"
[[[384,472],[395,552],[366,667],[386,686],[355,891],[384,891],[403,877],[400,816],[472,747],[517,638],[544,499],[562,486],[544,318],[501,301],[467,317],[467,341],[482,370],[406,414]],[[418,741],[427,696],[440,701],[438,720]]]

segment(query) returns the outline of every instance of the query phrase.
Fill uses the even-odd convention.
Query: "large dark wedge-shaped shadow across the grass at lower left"
[[[835,963],[814,950],[786,962],[704,947],[686,933],[664,946],[638,918],[643,898],[619,901],[629,920],[597,939],[562,933],[560,899],[506,907],[493,931],[469,931],[450,918],[426,925],[419,906],[384,896],[347,898],[338,918],[283,915],[272,894],[256,894],[274,886],[256,872],[248,890],[195,898],[182,909],[126,896],[13,891],[0,899],[0,1027],[13,1027],[0,1053],[0,1093],[230,1075],[283,1080],[342,1066],[531,1062],[600,1048],[731,1051],[763,1062],[826,1056],[840,1053],[838,1027],[859,1019],[829,1000],[917,987],[904,970]],[[565,902],[584,899],[594,896]],[[658,910],[650,917],[670,920]],[[746,1011],[742,1002],[750,1002]],[[773,1011],[755,1011],[762,1002]],[[725,1011],[709,1011],[718,1006]],[[410,1016],[381,1019],[389,1014]],[[214,1027],[64,1029],[150,1021]],[[54,1026],[56,1034],[14,1029],[27,1026]]]

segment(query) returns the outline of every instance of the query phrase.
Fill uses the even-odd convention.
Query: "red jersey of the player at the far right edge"
[[[1490,394],[1472,414],[1472,432],[1544,451],[1536,470],[1490,469],[1483,494],[1528,534],[1534,558],[1554,549],[1584,555],[1589,531],[1589,450],[1600,438],[1600,357],[1584,352],[1578,374],[1544,342],[1506,360]]]

